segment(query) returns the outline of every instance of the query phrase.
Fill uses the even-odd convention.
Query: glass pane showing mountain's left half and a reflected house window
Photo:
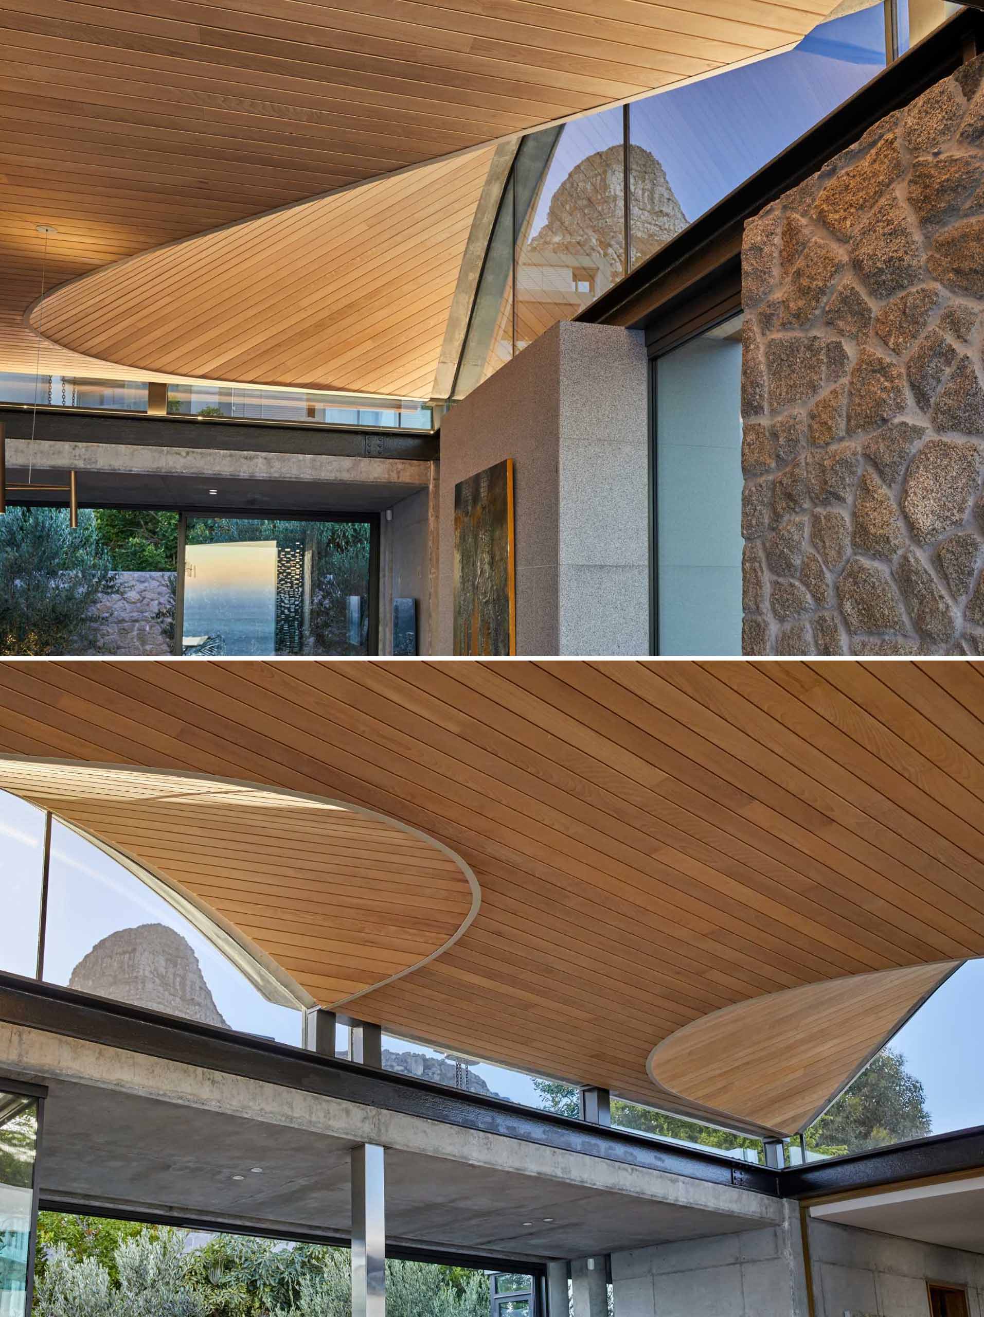
[[[523,142],[516,161],[516,352],[624,274],[622,109]]]

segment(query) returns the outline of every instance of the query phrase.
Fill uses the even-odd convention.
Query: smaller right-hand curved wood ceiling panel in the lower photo
[[[742,1119],[796,1134],[960,963],[883,969],[726,1006],[659,1043],[649,1075],[676,1097],[723,1104]]]

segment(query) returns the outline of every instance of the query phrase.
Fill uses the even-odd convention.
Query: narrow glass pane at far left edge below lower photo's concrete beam
[[[0,1092],[0,1317],[25,1317],[38,1104]]]

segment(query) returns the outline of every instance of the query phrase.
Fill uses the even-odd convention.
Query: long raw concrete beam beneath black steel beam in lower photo
[[[439,1119],[407,1115],[21,1025],[0,1023],[0,1073],[4,1072],[25,1079],[63,1080],[84,1085],[92,1090],[92,1110],[96,1113],[101,1090],[177,1104],[188,1113],[188,1121],[192,1113],[207,1112],[219,1113],[231,1122],[260,1122],[269,1129],[270,1139],[274,1137],[273,1127],[278,1127],[340,1141],[345,1147],[353,1143],[378,1143],[393,1154],[441,1159],[444,1169],[437,1175],[435,1164],[432,1173],[429,1192],[435,1195],[447,1196],[452,1192],[449,1176],[453,1168],[457,1168],[453,1173],[458,1177],[473,1176],[476,1187],[481,1185],[482,1193],[493,1193],[493,1200],[495,1193],[502,1195],[506,1184],[501,1177],[515,1177],[508,1179],[508,1183],[516,1187],[518,1204],[523,1204],[533,1192],[544,1198],[552,1196],[557,1201],[576,1198],[578,1220],[590,1220],[591,1227],[599,1231],[606,1229],[606,1220],[622,1221],[622,1213],[626,1221],[635,1222],[634,1229],[652,1233],[663,1229],[657,1222],[673,1222],[673,1229],[678,1229],[680,1222],[692,1216],[696,1222],[693,1233],[698,1229],[705,1233],[755,1229],[780,1223],[784,1217],[780,1200],[736,1185],[711,1184],[519,1138],[462,1129]],[[53,1115],[55,1110],[53,1106]],[[75,1118],[88,1118],[78,1098]],[[304,1150],[304,1164],[310,1168],[307,1141]],[[123,1155],[125,1148],[119,1151]],[[47,1164],[50,1167],[50,1160]],[[113,1167],[104,1167],[100,1160],[92,1173],[103,1175],[104,1169],[109,1175]],[[539,1185],[536,1191],[535,1184]],[[458,1187],[457,1193],[460,1192]],[[107,1196],[109,1193],[111,1188],[107,1187]],[[590,1206],[591,1202],[595,1204],[594,1208]],[[524,1212],[526,1206],[515,1206],[512,1216],[518,1220],[510,1221],[515,1237],[511,1246],[516,1252],[531,1251],[531,1234],[522,1225]],[[543,1210],[540,1221],[557,1214],[552,1208]],[[418,1218],[419,1216],[418,1213]],[[451,1213],[449,1229],[465,1229],[465,1217],[458,1202]],[[540,1225],[539,1229],[553,1238],[560,1226],[547,1229]],[[622,1230],[623,1226],[618,1229]],[[561,1252],[560,1247],[555,1251],[551,1245],[545,1245],[545,1249],[548,1256],[551,1251],[555,1256]]]

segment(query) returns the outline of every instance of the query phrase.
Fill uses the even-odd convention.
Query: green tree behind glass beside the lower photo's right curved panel
[[[829,1156],[926,1138],[933,1119],[922,1081],[905,1056],[885,1047],[806,1131],[806,1146]]]

